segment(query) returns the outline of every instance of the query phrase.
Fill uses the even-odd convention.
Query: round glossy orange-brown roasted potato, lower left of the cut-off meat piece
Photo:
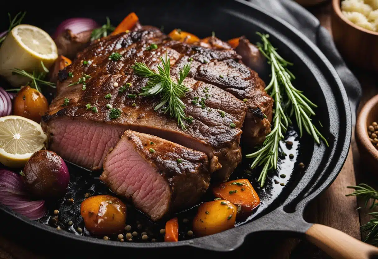
[[[85,228],[95,236],[112,236],[124,231],[126,205],[116,197],[97,195],[81,203]]]

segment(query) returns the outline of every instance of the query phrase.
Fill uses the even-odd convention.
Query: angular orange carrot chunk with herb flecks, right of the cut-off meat
[[[219,184],[213,189],[215,197],[228,200],[241,206],[241,212],[252,212],[260,204],[260,198],[248,179],[239,179]]]

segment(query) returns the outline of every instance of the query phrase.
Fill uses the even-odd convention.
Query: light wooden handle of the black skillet
[[[306,238],[335,259],[370,259],[378,256],[378,248],[329,226],[313,224],[306,231]]]

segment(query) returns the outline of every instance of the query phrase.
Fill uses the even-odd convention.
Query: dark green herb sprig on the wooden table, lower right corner
[[[378,192],[369,185],[362,183],[358,186],[347,186],[347,188],[355,189],[355,191],[345,196],[357,196],[363,198],[363,200],[365,200],[365,207],[370,200],[372,200],[372,205],[369,209],[373,209],[378,205],[376,202],[378,200]],[[376,245],[378,244],[378,212],[370,212],[366,215],[370,215],[372,218],[369,222],[361,226],[361,232],[368,232],[364,242]]]

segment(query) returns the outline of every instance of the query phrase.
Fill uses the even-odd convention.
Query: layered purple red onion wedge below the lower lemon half
[[[0,203],[32,220],[46,215],[45,201],[31,201],[20,175],[0,169]]]

